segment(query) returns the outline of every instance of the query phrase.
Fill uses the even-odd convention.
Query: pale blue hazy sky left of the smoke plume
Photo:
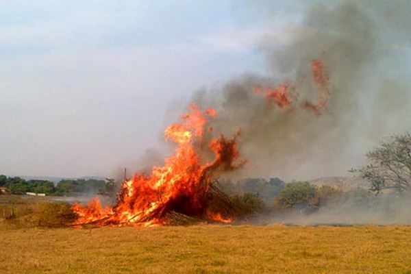
[[[0,0],[0,174],[138,169],[193,91],[264,71],[267,29],[286,45],[303,1],[267,2]]]

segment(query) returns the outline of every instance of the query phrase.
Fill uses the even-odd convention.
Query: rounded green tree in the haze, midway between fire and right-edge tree
[[[308,182],[292,182],[286,184],[275,198],[279,208],[307,208],[316,194],[315,186]]]

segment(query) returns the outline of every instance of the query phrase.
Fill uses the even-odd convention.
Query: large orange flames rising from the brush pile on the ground
[[[208,161],[200,147],[204,128],[210,117],[216,117],[216,111],[202,112],[197,105],[191,105],[190,110],[181,116],[182,123],[170,125],[164,131],[165,138],[177,145],[175,154],[165,160],[164,166],[153,167],[149,176],[136,173],[123,182],[113,207],[102,208],[97,198],[86,207],[75,204],[73,210],[78,219],[73,225],[162,225],[170,212],[224,223],[231,220],[221,212],[208,212],[208,195],[213,173],[245,164],[236,162],[236,136],[240,131],[231,139],[220,136],[211,140],[208,150],[214,153],[214,159]]]

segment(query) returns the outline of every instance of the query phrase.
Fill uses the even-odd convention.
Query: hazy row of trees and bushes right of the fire
[[[343,191],[334,186],[315,186],[310,182],[285,183],[278,178],[247,178],[220,184],[239,208],[240,215],[291,210],[306,214],[341,203],[364,206],[373,196],[364,188]]]

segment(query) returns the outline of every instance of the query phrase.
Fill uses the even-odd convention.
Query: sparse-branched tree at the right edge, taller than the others
[[[366,154],[367,164],[351,172],[371,182],[371,191],[386,188],[411,193],[411,134],[390,136]]]

